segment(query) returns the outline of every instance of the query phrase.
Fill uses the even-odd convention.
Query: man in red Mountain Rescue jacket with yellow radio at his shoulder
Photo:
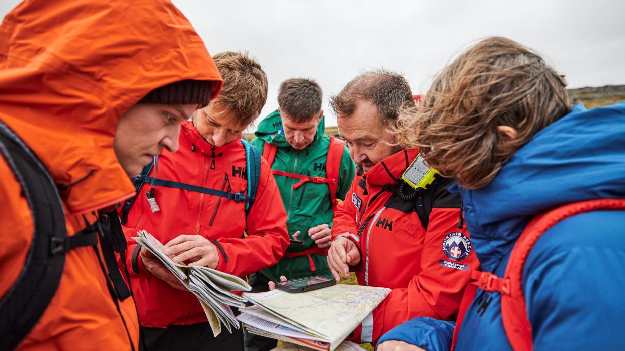
[[[334,215],[328,264],[337,281],[356,271],[359,284],[392,289],[354,330],[361,343],[417,315],[455,320],[467,269],[479,267],[460,197],[447,191],[453,181],[415,190],[401,179],[419,150],[394,145],[389,129],[414,100],[406,80],[385,70],[359,75],[330,100],[360,175]]]

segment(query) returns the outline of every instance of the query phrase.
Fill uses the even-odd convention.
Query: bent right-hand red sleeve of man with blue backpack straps
[[[289,247],[286,211],[276,180],[262,159],[256,200],[247,214],[245,238],[217,239],[221,246],[217,270],[245,276],[276,264]],[[227,257],[227,258],[226,258]]]

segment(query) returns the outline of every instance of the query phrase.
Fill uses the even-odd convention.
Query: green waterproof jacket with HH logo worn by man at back
[[[322,117],[311,145],[304,150],[295,150],[284,137],[282,120],[276,110],[262,120],[256,130],[256,138],[251,143],[261,152],[264,150],[265,143],[277,146],[272,170],[326,178],[326,156],[330,138],[324,135],[324,129],[324,117]],[[339,168],[337,199],[344,200],[355,174],[356,165],[345,147]],[[334,214],[328,186],[307,182],[294,190],[293,185],[299,181],[298,179],[281,175],[274,175],[274,177],[282,196],[282,203],[289,216],[286,224],[289,236],[292,238],[294,233],[301,231],[298,238],[305,241],[304,244],[291,244],[287,252],[311,249],[314,241],[308,236],[308,229],[324,223],[332,226]],[[314,272],[311,272],[311,264],[306,255],[282,257],[277,264],[261,272],[272,281],[279,281],[281,275],[288,279],[311,275],[332,276],[327,267],[326,256],[312,254],[311,259],[315,267]]]

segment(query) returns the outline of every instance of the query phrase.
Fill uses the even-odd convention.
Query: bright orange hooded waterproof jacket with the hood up
[[[4,18],[0,120],[55,183],[71,185],[60,191],[68,235],[84,228],[83,216],[93,223],[94,211],[134,195],[113,150],[121,115],[151,90],[186,79],[217,82],[213,97],[221,90],[204,43],[169,1],[24,1]],[[2,297],[24,266],[33,231],[2,157],[0,198]],[[129,337],[138,345],[133,299],[119,307],[123,317],[93,249],[73,249],[56,294],[18,349],[129,350]]]

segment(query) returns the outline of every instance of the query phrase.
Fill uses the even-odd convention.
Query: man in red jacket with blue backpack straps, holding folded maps
[[[249,195],[246,149],[240,139],[266,101],[266,75],[247,54],[222,52],[213,59],[227,82],[221,94],[183,123],[178,152],[159,156],[149,176]],[[256,199],[247,213],[244,202],[227,197],[144,183],[124,234],[126,264],[148,349],[242,350],[243,339],[241,329],[212,335],[197,298],[131,239],[137,231],[145,229],[166,243],[174,261],[244,277],[282,257],[289,245],[286,219],[276,181],[264,161]]]

